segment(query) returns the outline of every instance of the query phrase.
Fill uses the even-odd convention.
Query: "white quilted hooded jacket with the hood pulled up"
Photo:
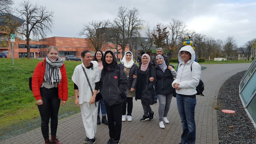
[[[191,53],[191,60],[185,63],[181,58],[181,51],[188,51]],[[172,82],[172,87],[174,87],[174,83],[179,83],[180,90],[176,90],[177,94],[194,95],[197,93],[196,86],[199,84],[201,77],[201,66],[194,61],[195,51],[191,46],[184,46],[179,51],[178,59],[180,61],[179,69],[177,72],[176,80]]]

